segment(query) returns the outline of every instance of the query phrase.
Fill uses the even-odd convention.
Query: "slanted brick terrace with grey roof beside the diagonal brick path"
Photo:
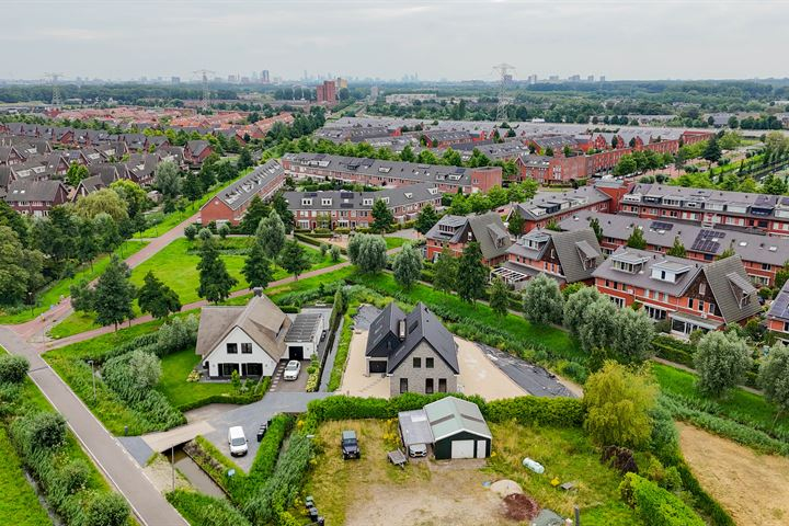
[[[261,199],[268,199],[284,184],[285,171],[278,162],[271,160],[256,167],[203,205],[201,222],[204,226],[210,222],[238,225],[255,195]]]

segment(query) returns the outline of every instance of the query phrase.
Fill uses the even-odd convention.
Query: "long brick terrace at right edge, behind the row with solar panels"
[[[636,184],[621,196],[621,214],[649,219],[789,236],[789,197]]]

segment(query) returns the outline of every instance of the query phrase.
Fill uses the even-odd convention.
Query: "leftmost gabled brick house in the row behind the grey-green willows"
[[[485,265],[495,265],[506,259],[506,251],[512,245],[506,227],[495,211],[443,216],[427,231],[425,240],[425,258],[430,261],[435,261],[444,249],[459,258],[468,243],[477,242]]]

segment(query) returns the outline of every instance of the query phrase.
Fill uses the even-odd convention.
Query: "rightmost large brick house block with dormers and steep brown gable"
[[[756,287],[739,255],[711,263],[621,248],[593,273],[595,286],[618,307],[633,302],[672,332],[687,338],[727,323],[744,323],[761,311]]]

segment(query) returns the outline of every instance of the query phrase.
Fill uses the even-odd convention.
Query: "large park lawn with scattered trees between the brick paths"
[[[241,268],[243,268],[247,258],[243,255],[243,251],[249,248],[251,242],[252,238],[228,238],[221,241],[221,250],[226,253],[220,258],[225,262],[230,275],[238,281],[238,284],[232,290],[249,287],[243,275],[241,275]],[[175,290],[175,294],[179,295],[183,305],[198,301],[201,299],[199,296],[197,296],[197,287],[199,286],[199,272],[197,271],[197,264],[199,263],[199,254],[197,253],[198,245],[199,241],[188,241],[185,238],[176,239],[135,267],[132,271],[132,283],[138,287],[141,286],[148,271],[152,271],[159,279]],[[302,247],[312,261],[311,271],[335,264],[331,261],[329,254],[321,256],[318,249]],[[285,278],[288,275],[285,270],[275,266],[274,281]],[[141,316],[136,305],[135,315]],[[49,335],[56,339],[66,338],[98,328],[99,325],[94,322],[92,315],[73,312],[59,324],[55,325],[49,331]]]

